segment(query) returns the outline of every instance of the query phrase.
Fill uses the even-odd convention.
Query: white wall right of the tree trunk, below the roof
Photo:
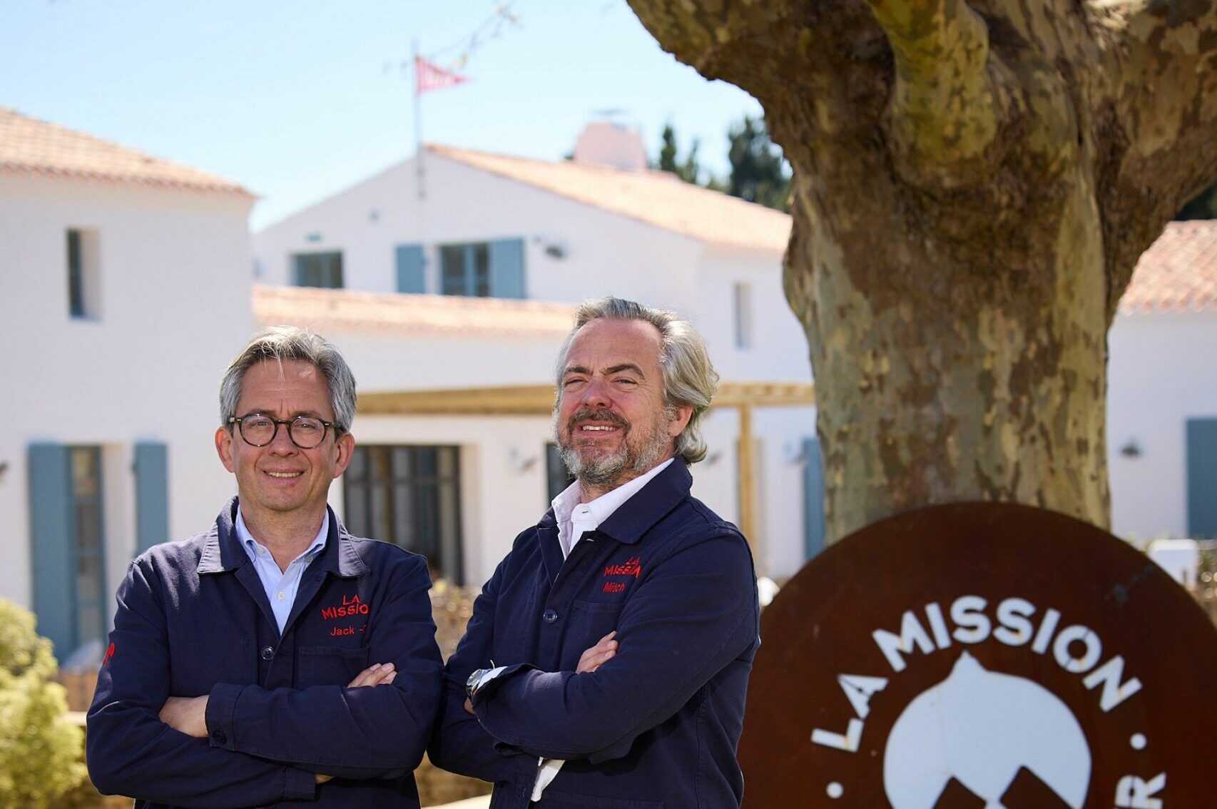
[[[1112,530],[1187,536],[1187,420],[1217,417],[1217,311],[1120,315],[1107,345]]]

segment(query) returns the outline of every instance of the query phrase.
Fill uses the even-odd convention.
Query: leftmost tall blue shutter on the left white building
[[[62,444],[29,445],[29,539],[34,560],[38,634],[51,639],[62,659],[72,652],[75,515],[68,450]]]

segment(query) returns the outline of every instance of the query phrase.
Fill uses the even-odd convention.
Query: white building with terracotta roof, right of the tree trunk
[[[1114,529],[1217,539],[1217,220],[1166,226],[1107,345]]]

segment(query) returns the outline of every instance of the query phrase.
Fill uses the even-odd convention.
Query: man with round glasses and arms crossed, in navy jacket
[[[220,384],[237,496],[131,562],[88,718],[103,793],[136,807],[419,807],[442,663],[426,560],[326,505],[355,383],[319,336],[256,336]]]

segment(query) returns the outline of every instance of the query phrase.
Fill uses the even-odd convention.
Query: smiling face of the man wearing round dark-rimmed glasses
[[[274,418],[314,416],[333,421],[330,392],[318,369],[303,360],[263,360],[241,378],[236,416],[260,412]],[[280,425],[275,439],[252,446],[241,438],[236,425],[215,431],[215,449],[224,468],[236,474],[241,513],[251,528],[269,521],[312,524],[325,513],[330,482],[350,462],[354,439],[350,433],[336,438],[333,427],[313,449],[301,449]]]

